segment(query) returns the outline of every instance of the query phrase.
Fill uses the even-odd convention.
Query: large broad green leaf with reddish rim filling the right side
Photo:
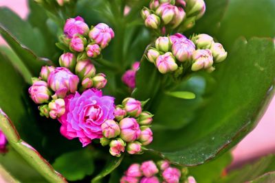
[[[274,93],[274,58],[272,39],[236,42],[214,72],[217,85],[196,118],[179,130],[154,130],[151,147],[172,162],[197,165],[239,143],[259,121]]]

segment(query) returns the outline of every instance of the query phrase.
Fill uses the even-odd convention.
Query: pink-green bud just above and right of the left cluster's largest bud
[[[76,63],[76,75],[80,79],[93,77],[96,75],[96,67],[91,63],[91,60],[80,60]]]

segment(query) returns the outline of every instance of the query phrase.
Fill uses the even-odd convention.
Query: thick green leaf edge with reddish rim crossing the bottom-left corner
[[[65,178],[45,160],[36,149],[25,143],[19,136],[12,121],[0,108],[0,129],[10,145],[49,182],[67,182]]]

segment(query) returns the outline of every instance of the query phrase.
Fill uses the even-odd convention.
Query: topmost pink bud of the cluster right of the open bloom
[[[131,117],[138,117],[142,113],[142,104],[136,99],[128,97],[122,101],[122,105]]]

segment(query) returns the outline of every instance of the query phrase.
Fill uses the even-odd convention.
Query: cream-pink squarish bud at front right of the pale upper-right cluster
[[[200,69],[208,69],[213,64],[213,56],[210,49],[197,49],[193,52],[192,71],[199,71]]]

